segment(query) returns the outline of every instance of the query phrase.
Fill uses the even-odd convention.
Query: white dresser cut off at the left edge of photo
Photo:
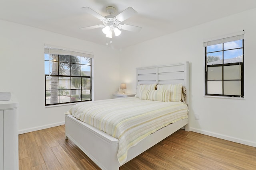
[[[18,170],[18,102],[0,101],[0,170]]]

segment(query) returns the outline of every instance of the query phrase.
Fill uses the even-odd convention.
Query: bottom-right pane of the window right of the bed
[[[224,94],[241,96],[241,81],[224,81]]]

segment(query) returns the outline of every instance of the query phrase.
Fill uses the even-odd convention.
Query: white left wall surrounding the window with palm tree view
[[[119,85],[119,51],[0,20],[0,91],[19,101],[19,132],[64,124],[71,107],[44,106],[44,44],[94,53],[94,100],[112,98]]]

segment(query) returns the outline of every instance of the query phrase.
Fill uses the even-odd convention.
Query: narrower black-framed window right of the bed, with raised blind
[[[206,96],[244,97],[244,35],[208,41],[205,47]]]

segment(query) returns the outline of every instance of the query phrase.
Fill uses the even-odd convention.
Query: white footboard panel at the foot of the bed
[[[70,138],[102,170],[118,170],[119,140],[66,115],[66,138]]]

